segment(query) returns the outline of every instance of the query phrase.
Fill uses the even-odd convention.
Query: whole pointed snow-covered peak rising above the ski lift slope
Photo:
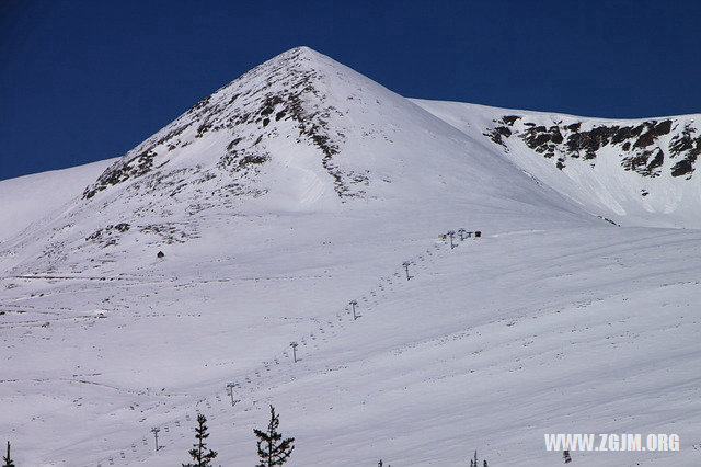
[[[485,143],[299,47],[130,150],[80,200],[9,241],[0,261],[16,274],[84,272],[87,264],[96,272],[115,258],[206,241],[238,228],[240,216],[365,206],[433,217],[428,224],[448,206],[448,216],[493,206],[587,219]]]

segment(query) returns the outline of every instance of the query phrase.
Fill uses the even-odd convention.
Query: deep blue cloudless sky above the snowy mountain
[[[0,0],[0,180],[120,156],[297,45],[406,96],[701,112],[698,1]]]

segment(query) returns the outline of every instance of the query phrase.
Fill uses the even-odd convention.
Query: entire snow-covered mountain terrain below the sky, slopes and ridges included
[[[177,465],[200,410],[251,465],[272,402],[292,465],[556,464],[567,431],[681,435],[577,465],[696,465],[698,130],[286,52],[108,167],[0,182],[0,431],[20,465]]]

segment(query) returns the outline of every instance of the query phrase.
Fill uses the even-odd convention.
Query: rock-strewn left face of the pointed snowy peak
[[[271,160],[268,141],[280,135],[320,151],[338,197],[360,195],[353,186],[367,179],[344,172],[334,163],[344,135],[330,130],[327,123],[340,112],[324,105],[327,99],[320,84],[325,76],[313,61],[314,53],[299,47],[246,72],[129,151],[85,189],[83,198],[125,183],[135,189],[166,187],[170,196],[176,196],[187,185],[212,179],[228,181],[217,187],[219,191],[261,195],[266,189],[252,187],[249,182]],[[205,158],[202,151],[187,149],[195,143],[220,144],[221,139],[226,139],[221,150]],[[184,152],[197,152],[200,160],[183,169],[177,162]],[[186,172],[189,175],[185,178]]]

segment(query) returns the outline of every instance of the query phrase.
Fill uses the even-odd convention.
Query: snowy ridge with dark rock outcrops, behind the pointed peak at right
[[[699,227],[701,117],[601,119],[415,101],[619,224]]]

